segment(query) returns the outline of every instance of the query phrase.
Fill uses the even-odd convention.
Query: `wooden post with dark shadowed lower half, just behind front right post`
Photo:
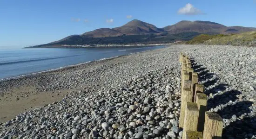
[[[199,109],[197,131],[203,132],[205,112],[207,111],[207,95],[205,95],[203,93],[197,93],[196,94],[196,104]]]

